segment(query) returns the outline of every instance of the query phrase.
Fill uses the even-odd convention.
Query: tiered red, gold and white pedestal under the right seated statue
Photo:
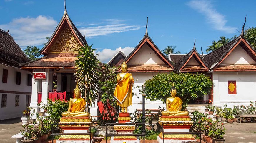
[[[159,124],[163,125],[164,133],[174,133],[174,132],[189,132],[189,128],[193,125],[190,123],[182,123],[182,122],[191,122],[191,118],[189,116],[161,116],[159,118]],[[172,124],[168,124],[172,123]],[[173,124],[177,123],[177,124]],[[163,133],[161,132],[157,141],[159,143],[163,143]],[[175,135],[164,135],[165,143],[181,143],[182,141],[195,141],[195,138],[192,135],[186,134],[175,134]]]

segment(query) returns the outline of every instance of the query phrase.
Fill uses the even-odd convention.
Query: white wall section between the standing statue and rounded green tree
[[[142,109],[142,94],[139,93],[139,88],[136,88],[136,87],[137,86],[141,87],[146,80],[151,79],[154,75],[157,75],[157,73],[156,72],[132,73],[132,76],[134,78],[134,88],[132,90],[137,95],[132,97],[132,106],[128,107],[128,112],[132,113],[136,109]],[[158,109],[159,106],[163,107],[165,106],[165,104],[163,104],[162,101],[150,101],[146,99],[146,104],[145,104],[146,109]]]

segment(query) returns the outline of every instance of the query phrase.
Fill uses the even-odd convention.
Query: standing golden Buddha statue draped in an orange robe
[[[117,105],[122,108],[121,112],[127,112],[127,107],[132,105],[132,85],[134,80],[131,73],[127,73],[127,64],[121,65],[122,73],[117,74],[117,85],[114,97],[117,99]]]

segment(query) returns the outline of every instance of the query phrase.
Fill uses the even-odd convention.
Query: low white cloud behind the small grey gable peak
[[[121,50],[122,52],[124,52],[126,56],[128,56],[133,49],[134,47],[124,47]],[[117,52],[119,52],[119,48],[116,48],[115,50],[103,49],[102,51],[97,51],[96,54],[99,54],[97,58],[99,59],[100,62],[107,63],[112,57],[114,57],[117,54]]]

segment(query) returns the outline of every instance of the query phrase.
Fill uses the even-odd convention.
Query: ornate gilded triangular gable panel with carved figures
[[[79,50],[79,47],[81,45],[77,42],[71,29],[66,26],[54,46],[49,50],[49,53],[76,52],[75,50]]]

